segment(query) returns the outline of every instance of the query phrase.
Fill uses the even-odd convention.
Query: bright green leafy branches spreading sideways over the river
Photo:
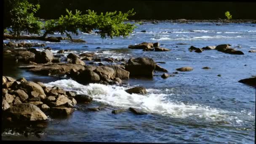
[[[78,32],[91,32],[92,30],[98,30],[98,34],[101,38],[108,37],[126,37],[133,29],[135,29],[135,24],[124,23],[128,20],[128,16],[133,16],[135,12],[133,9],[127,13],[106,12],[97,15],[96,12],[88,10],[88,14],[82,14],[81,11],[67,10],[67,15],[62,16],[59,20],[49,20],[45,22],[45,34],[53,34],[54,32],[60,32],[61,35],[66,34],[67,37],[72,38],[70,33],[78,35]]]

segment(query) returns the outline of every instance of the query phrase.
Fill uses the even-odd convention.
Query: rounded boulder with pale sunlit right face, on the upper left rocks
[[[35,62],[37,64],[45,64],[53,60],[53,53],[49,50],[44,50],[35,55]]]

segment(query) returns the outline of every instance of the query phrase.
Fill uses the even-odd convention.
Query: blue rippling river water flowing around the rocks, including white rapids
[[[78,109],[66,119],[51,118],[48,126],[37,138],[33,133],[26,138],[6,129],[3,139],[43,141],[118,141],[160,143],[254,143],[255,137],[255,88],[238,83],[238,80],[256,74],[256,24],[213,23],[173,24],[160,22],[137,25],[127,38],[102,40],[96,34],[73,36],[88,43],[46,43],[53,53],[71,49],[73,53],[94,51],[98,56],[125,58],[146,56],[169,73],[179,67],[193,67],[190,72],[179,72],[174,77],[162,79],[163,72],[155,72],[152,79],[124,80],[123,85],[81,85],[70,79],[42,77],[4,62],[4,75],[43,80],[46,85],[58,85],[93,96],[93,103],[78,107],[104,105],[99,112]],[[141,32],[146,30],[147,32]],[[59,34],[56,34],[59,36]],[[4,42],[8,42],[7,40]],[[38,42],[27,40],[27,42]],[[142,42],[159,42],[168,52],[128,49],[128,45]],[[184,43],[187,45],[177,45]],[[188,48],[229,43],[244,55],[231,55],[216,50],[203,53],[189,52]],[[83,46],[88,46],[84,48]],[[101,49],[96,49],[100,47]],[[38,50],[43,50],[39,48]],[[70,53],[70,52],[68,52]],[[67,56],[68,53],[65,53]],[[102,62],[104,63],[104,62]],[[245,66],[245,64],[247,66]],[[211,69],[202,69],[202,67]],[[221,74],[221,77],[217,75]],[[128,94],[124,90],[141,85],[147,95]],[[137,107],[149,115],[122,112],[114,115],[112,109]]]

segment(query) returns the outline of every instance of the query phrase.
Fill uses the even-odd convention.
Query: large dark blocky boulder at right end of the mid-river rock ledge
[[[153,77],[155,62],[149,58],[131,58],[125,64],[125,70],[130,72],[130,76]]]

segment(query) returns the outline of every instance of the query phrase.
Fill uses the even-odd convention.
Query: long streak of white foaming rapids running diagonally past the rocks
[[[210,108],[199,104],[184,104],[179,101],[167,99],[167,94],[148,93],[147,95],[129,94],[125,87],[116,85],[89,84],[81,85],[74,80],[58,80],[45,84],[57,85],[66,91],[77,91],[78,94],[93,96],[95,101],[110,104],[115,107],[136,107],[149,113],[157,113],[176,118],[197,117],[210,121],[235,121],[239,118],[229,115],[230,112],[223,109]],[[150,89],[150,92],[153,90]],[[240,121],[237,121],[240,122]],[[234,122],[235,123],[235,122]]]

